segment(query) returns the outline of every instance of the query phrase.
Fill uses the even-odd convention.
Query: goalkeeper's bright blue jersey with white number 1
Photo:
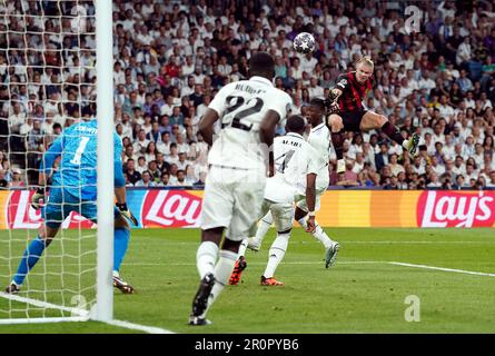
[[[52,189],[60,189],[81,200],[97,197],[97,120],[79,122],[67,128],[43,155],[40,169],[48,176],[53,170]],[[123,187],[122,141],[113,131],[115,186]],[[60,157],[58,165],[55,165]]]

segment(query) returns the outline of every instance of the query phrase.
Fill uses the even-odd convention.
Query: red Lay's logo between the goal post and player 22
[[[201,198],[184,190],[149,190],[142,201],[142,227],[198,227]]]

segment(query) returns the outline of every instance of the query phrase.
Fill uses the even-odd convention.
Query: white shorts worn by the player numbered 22
[[[225,227],[234,241],[254,236],[264,199],[264,170],[219,168],[208,171],[202,196],[200,228]]]

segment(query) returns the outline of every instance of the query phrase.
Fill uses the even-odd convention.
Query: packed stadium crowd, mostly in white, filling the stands
[[[247,77],[255,51],[268,51],[275,86],[301,115],[370,56],[376,87],[366,108],[404,136],[422,136],[419,156],[409,159],[379,131],[347,132],[346,171],[335,172],[334,155],[330,185],[494,188],[493,3],[412,4],[423,11],[418,31],[399,1],[115,0],[115,123],[128,186],[201,187],[208,146],[199,119],[219,88]],[[47,146],[93,116],[93,13],[82,0],[0,4],[0,188],[36,184]],[[314,33],[313,53],[293,50],[301,31]]]

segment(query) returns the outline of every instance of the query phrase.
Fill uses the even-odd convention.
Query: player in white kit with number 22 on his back
[[[210,324],[206,314],[228,283],[239,244],[256,228],[266,176],[273,176],[275,169],[268,147],[293,102],[271,83],[275,62],[269,53],[257,52],[250,58],[249,75],[249,80],[221,88],[199,122],[201,136],[212,146],[201,207],[201,244],[196,255],[201,280],[192,300],[190,325]],[[221,131],[214,142],[214,125],[219,118]]]

